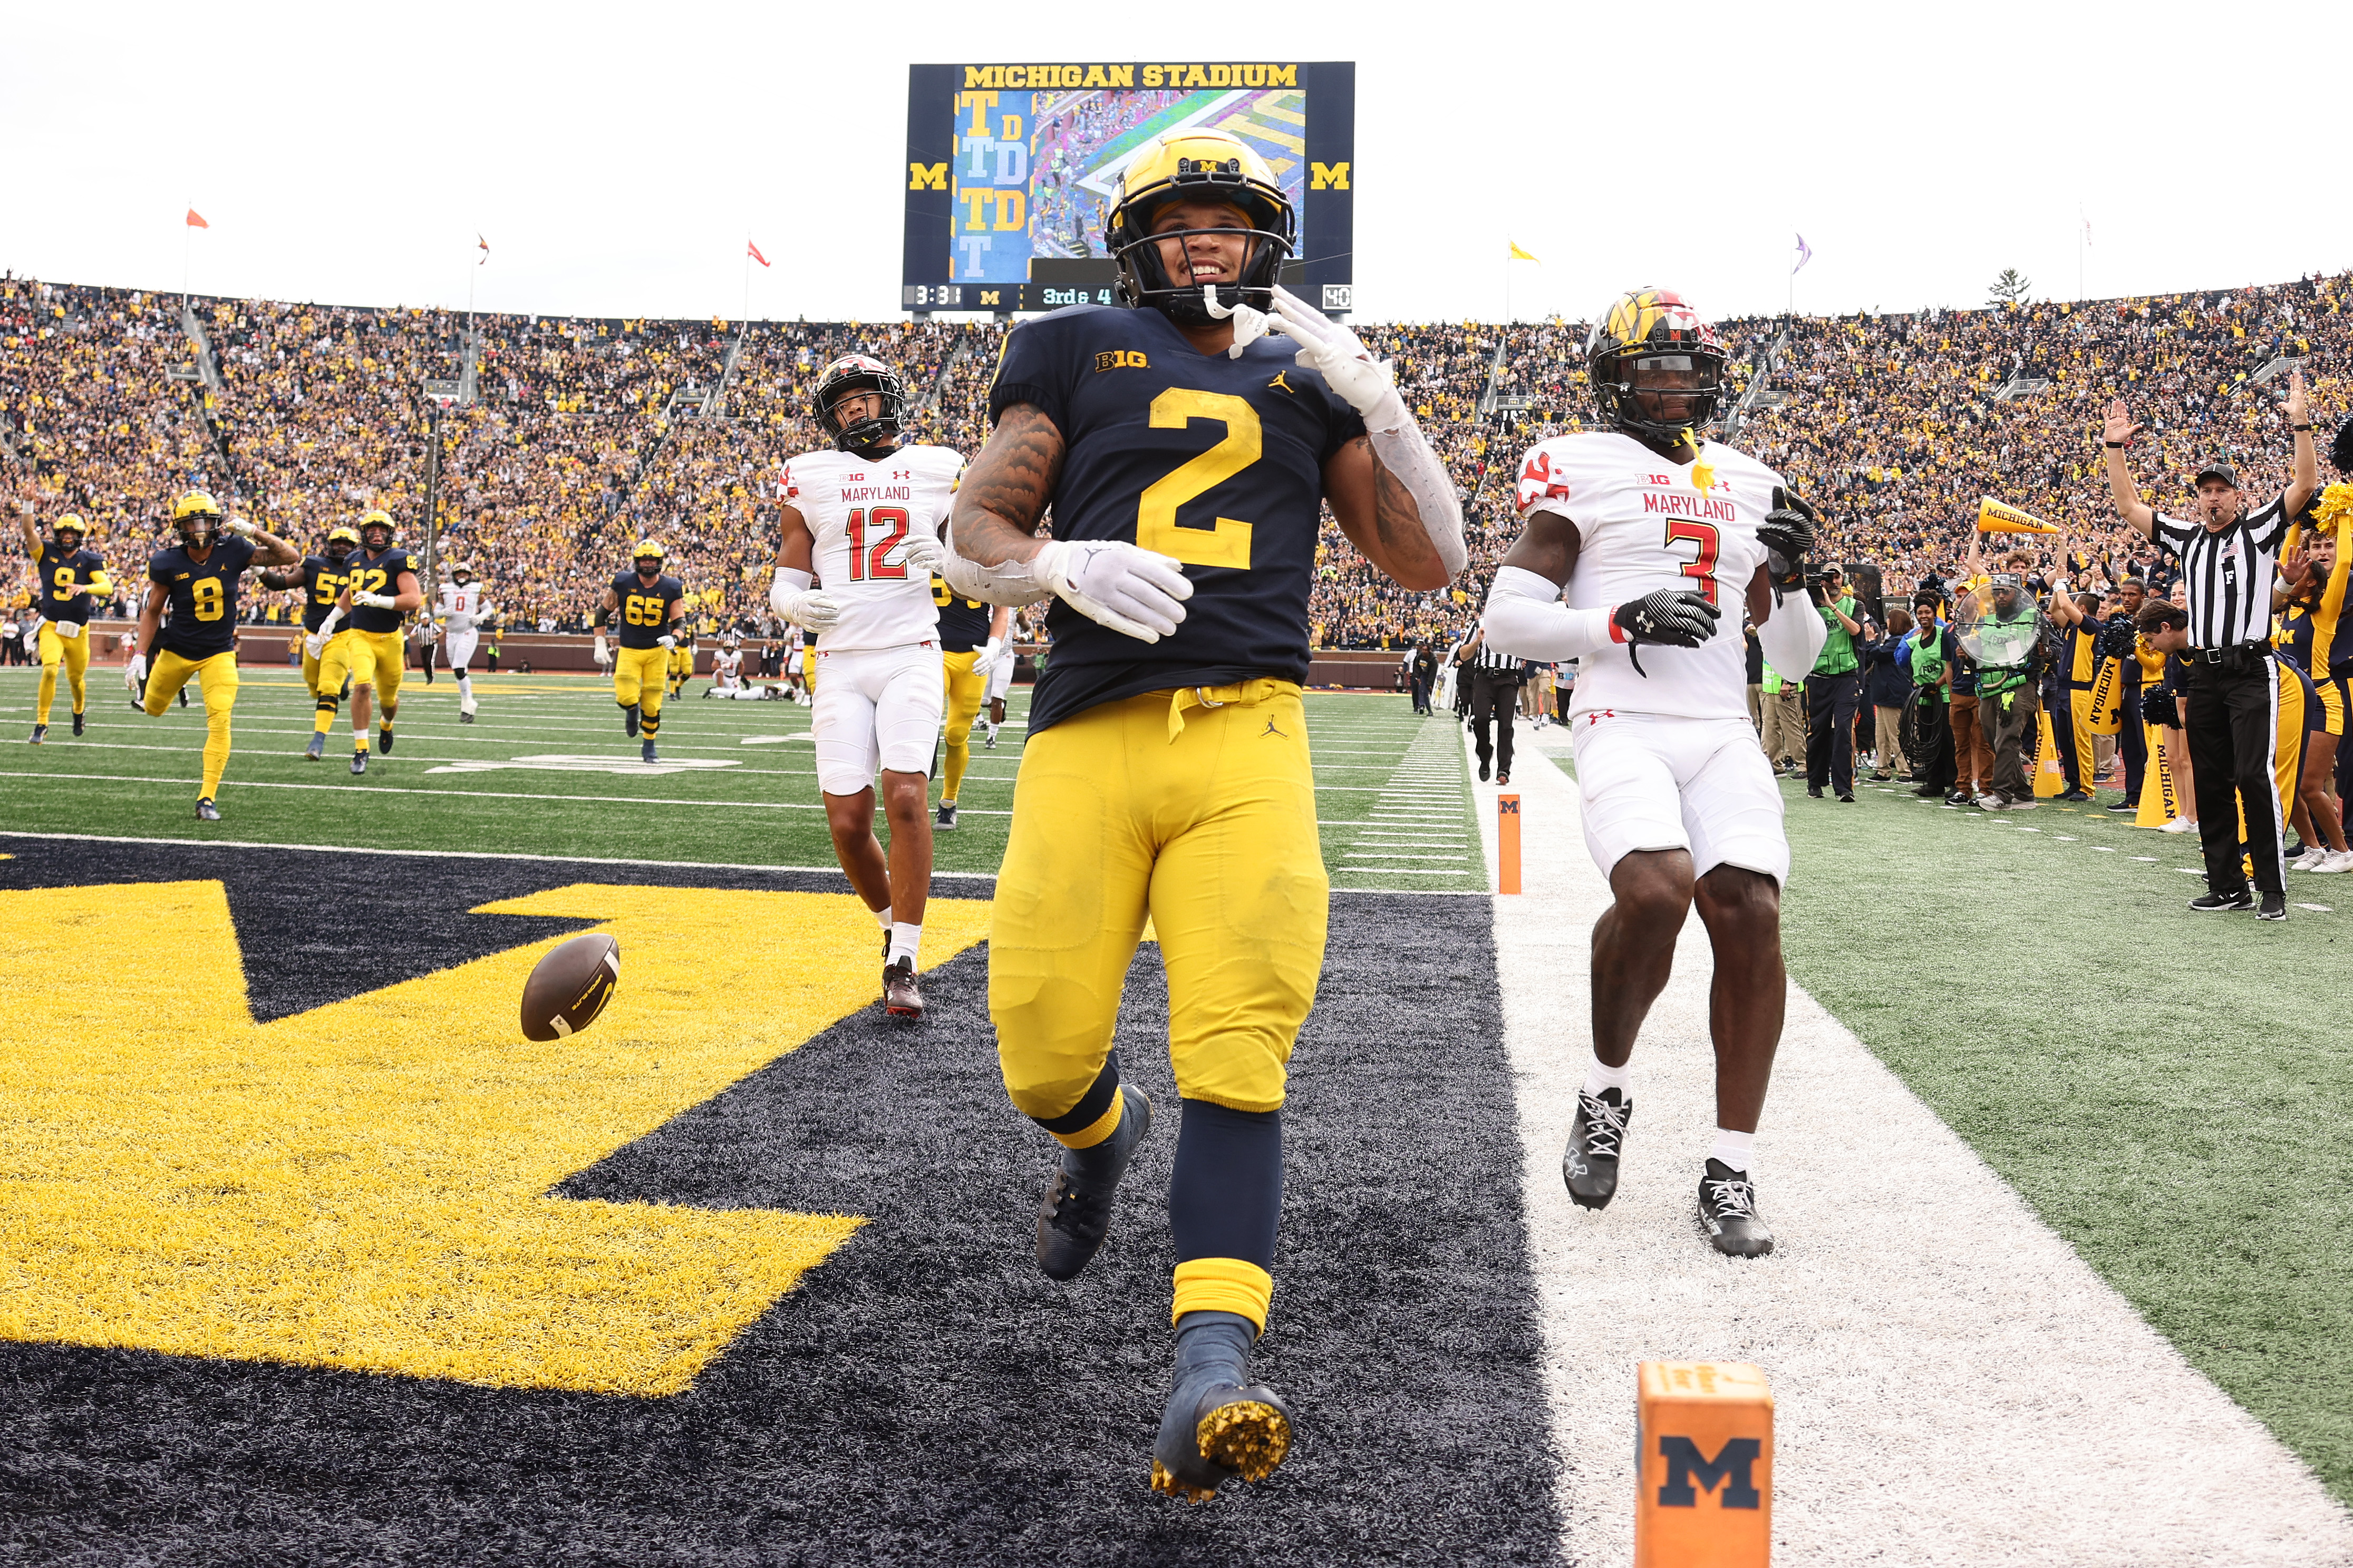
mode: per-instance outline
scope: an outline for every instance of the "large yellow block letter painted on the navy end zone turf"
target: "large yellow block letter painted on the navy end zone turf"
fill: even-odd
[[[569,886],[628,983],[527,1044],[548,945],[256,1025],[216,882],[0,893],[0,1338],[675,1394],[864,1220],[548,1197],[875,997],[856,898]],[[934,900],[941,959],[988,905]],[[800,931],[781,973],[744,931]],[[94,943],[169,961],[59,992]],[[741,957],[739,957],[741,954]],[[840,954],[826,957],[826,954]],[[35,1006],[35,992],[38,1006]]]

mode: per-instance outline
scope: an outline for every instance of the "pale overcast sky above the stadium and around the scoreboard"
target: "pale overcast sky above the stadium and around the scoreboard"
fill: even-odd
[[[2308,71],[2344,54],[2341,5],[1146,14],[26,9],[0,266],[179,289],[193,202],[212,294],[734,317],[751,237],[755,317],[892,317],[906,66],[1132,59],[1358,61],[1360,320],[1501,315],[1511,240],[1541,259],[1511,266],[1522,317],[1647,282],[1718,317],[1791,282],[1802,310],[1977,306],[2005,266],[2073,299],[2078,212],[2092,296],[2353,266]]]

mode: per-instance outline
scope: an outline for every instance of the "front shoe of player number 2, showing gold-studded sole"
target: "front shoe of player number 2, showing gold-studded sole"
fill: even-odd
[[[1207,1502],[1226,1481],[1252,1486],[1292,1450],[1292,1413],[1264,1382],[1249,1382],[1249,1340],[1240,1312],[1186,1312],[1176,1321],[1176,1378],[1153,1441],[1153,1490]]]

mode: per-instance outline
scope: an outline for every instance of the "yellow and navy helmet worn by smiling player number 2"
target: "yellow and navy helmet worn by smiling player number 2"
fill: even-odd
[[[1238,209],[1242,223],[1155,235],[1153,214],[1169,202],[1219,202]],[[1184,244],[1191,235],[1212,233],[1249,240],[1240,282],[1217,284],[1217,303],[1231,308],[1247,301],[1273,310],[1282,263],[1299,249],[1299,214],[1266,160],[1233,132],[1207,127],[1153,136],[1136,148],[1120,174],[1120,200],[1104,223],[1104,240],[1120,263],[1120,296],[1186,327],[1209,324],[1214,317],[1202,284],[1193,282],[1191,263],[1184,280],[1174,280],[1158,240]]]

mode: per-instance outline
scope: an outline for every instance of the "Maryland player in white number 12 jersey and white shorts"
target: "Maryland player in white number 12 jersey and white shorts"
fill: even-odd
[[[922,1018],[915,964],[932,889],[929,773],[944,682],[932,571],[965,458],[901,440],[904,414],[906,388],[880,360],[845,355],[819,376],[816,423],[835,449],[784,468],[769,604],[821,637],[807,656],[809,724],[833,853],[889,933],[882,1009]],[[873,830],[878,771],[889,860]]]

